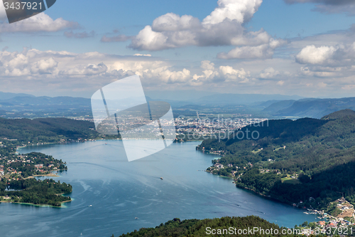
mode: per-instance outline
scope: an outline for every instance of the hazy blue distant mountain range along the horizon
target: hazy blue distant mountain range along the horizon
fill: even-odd
[[[242,112],[273,118],[321,118],[338,110],[355,110],[355,98],[317,99],[301,98],[298,95],[222,94],[194,90],[148,91],[146,95],[148,101],[169,102],[177,114],[183,110],[189,112],[189,115],[208,108],[212,111],[213,108],[212,112],[228,114]],[[0,116],[92,117],[91,100],[0,92]]]

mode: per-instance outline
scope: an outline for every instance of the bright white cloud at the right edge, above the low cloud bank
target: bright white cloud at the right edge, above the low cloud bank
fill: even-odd
[[[299,38],[287,45],[294,58],[297,73],[309,80],[315,78],[351,78],[355,67],[355,25],[344,31]],[[328,83],[330,84],[330,83]]]

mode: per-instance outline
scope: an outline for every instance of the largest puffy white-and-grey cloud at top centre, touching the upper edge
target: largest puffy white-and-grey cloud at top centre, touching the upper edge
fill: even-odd
[[[160,51],[184,46],[238,46],[219,58],[270,58],[285,41],[273,39],[266,31],[246,31],[244,24],[258,11],[262,0],[219,0],[209,16],[168,13],[155,19],[133,36],[130,48]]]

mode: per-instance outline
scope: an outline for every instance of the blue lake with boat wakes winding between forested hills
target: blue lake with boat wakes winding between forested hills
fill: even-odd
[[[198,144],[174,143],[133,162],[119,140],[21,148],[67,162],[67,172],[53,179],[72,184],[73,201],[64,208],[2,203],[1,236],[119,236],[175,217],[255,215],[288,227],[317,219],[204,172],[217,156],[196,151]]]

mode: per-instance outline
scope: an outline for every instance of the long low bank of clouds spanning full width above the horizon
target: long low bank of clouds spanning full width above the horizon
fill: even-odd
[[[337,58],[337,53],[332,58]],[[0,52],[0,80],[4,90],[71,96],[90,96],[98,88],[129,75],[140,75],[144,87],[151,90],[194,86],[197,90],[213,88],[229,93],[280,93],[285,90],[285,93],[307,96],[317,90],[321,82],[327,84],[326,90],[337,93],[346,85],[354,84],[355,64],[306,63],[301,70],[292,58],[245,60],[237,64],[217,62],[221,64],[204,60],[198,68],[184,68],[155,57],[25,48],[22,52]]]

